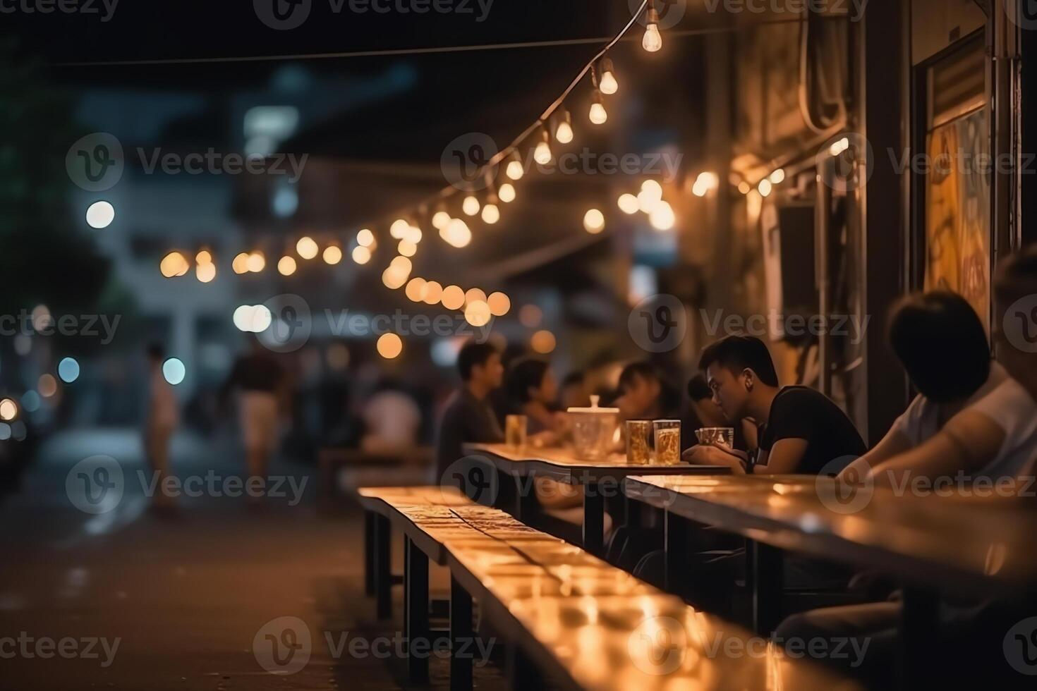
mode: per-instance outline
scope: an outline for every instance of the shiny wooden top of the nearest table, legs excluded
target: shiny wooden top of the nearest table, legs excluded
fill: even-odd
[[[1037,582],[1037,515],[1008,498],[836,496],[831,478],[630,477],[624,493],[783,549],[875,568],[950,591]]]

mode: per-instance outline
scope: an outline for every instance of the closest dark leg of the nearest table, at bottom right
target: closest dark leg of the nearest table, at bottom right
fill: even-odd
[[[903,588],[900,611],[900,688],[922,689],[940,667],[940,597],[927,587]]]

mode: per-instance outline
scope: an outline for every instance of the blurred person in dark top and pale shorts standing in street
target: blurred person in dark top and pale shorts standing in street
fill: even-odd
[[[239,415],[249,477],[265,482],[267,466],[277,443],[278,400],[284,396],[284,370],[259,340],[253,338],[248,353],[234,361],[221,398],[239,392]],[[251,495],[250,495],[251,497]]]

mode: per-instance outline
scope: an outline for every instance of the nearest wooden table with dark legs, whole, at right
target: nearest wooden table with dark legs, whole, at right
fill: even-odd
[[[1033,598],[1037,514],[1018,502],[898,496],[875,488],[864,495],[866,500],[842,505],[833,502],[835,490],[834,479],[795,476],[642,476],[627,478],[623,487],[628,497],[666,510],[668,578],[678,577],[685,564],[683,550],[677,549],[683,521],[673,516],[752,541],[754,626],[759,632],[772,631],[781,618],[782,550],[900,579],[908,686],[923,682],[927,665],[937,659],[941,593]]]

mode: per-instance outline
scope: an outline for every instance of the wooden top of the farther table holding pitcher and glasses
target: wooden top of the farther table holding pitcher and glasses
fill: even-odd
[[[629,476],[728,474],[730,468],[719,465],[633,465],[623,454],[610,454],[596,460],[579,458],[571,449],[527,448],[515,450],[503,443],[467,443],[465,454],[482,456],[500,471],[511,476],[537,474],[567,485],[621,482]]]

